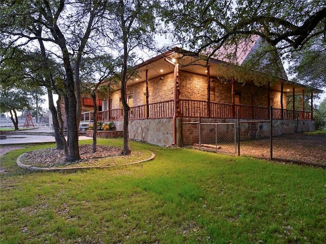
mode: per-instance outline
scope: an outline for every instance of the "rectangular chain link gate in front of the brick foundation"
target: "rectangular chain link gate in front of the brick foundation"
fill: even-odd
[[[199,123],[199,149],[236,153],[236,124]]]

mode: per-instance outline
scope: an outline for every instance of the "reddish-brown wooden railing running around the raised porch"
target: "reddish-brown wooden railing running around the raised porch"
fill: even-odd
[[[249,105],[232,105],[225,103],[210,103],[210,116],[208,113],[208,103],[199,100],[180,99],[180,110],[183,117],[199,117],[201,111],[202,117],[210,118],[236,118],[236,111],[239,108],[240,118],[244,119],[269,119],[269,109],[265,107]],[[129,110],[129,119],[146,119],[146,118],[171,118],[174,112],[173,100],[151,103],[147,106],[140,105],[131,107]],[[82,121],[92,121],[93,112],[82,113]],[[97,113],[98,121],[123,120],[123,109],[112,109],[100,111]],[[273,108],[273,117],[275,119],[312,119],[310,111],[293,111],[289,109]]]

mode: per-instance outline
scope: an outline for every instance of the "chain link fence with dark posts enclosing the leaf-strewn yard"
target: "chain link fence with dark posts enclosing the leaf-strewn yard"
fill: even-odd
[[[182,123],[183,146],[326,168],[326,134],[305,133],[298,120],[287,124],[273,117],[261,121],[238,119],[237,123],[199,120]],[[288,133],[280,133],[285,124]]]

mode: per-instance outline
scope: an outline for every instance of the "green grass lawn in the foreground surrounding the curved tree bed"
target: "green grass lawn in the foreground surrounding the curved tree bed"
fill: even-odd
[[[98,139],[121,146],[121,139]],[[91,143],[86,142],[86,143]],[[150,162],[26,172],[1,159],[4,243],[325,243],[326,172],[131,142]]]

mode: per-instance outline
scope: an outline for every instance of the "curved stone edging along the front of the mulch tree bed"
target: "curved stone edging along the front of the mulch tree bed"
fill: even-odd
[[[103,169],[103,168],[111,168],[111,167],[118,167],[118,166],[126,166],[126,165],[133,165],[133,164],[140,164],[140,163],[144,163],[147,161],[151,161],[155,158],[155,154],[151,153],[151,157],[149,159],[145,159],[145,160],[141,160],[141,161],[137,161],[137,162],[133,162],[133,163],[128,163],[128,164],[119,164],[119,165],[107,165],[107,166],[83,166],[83,167],[66,167],[66,168],[41,168],[41,167],[35,167],[35,166],[31,166],[31,165],[26,165],[26,164],[22,164],[20,162],[20,158],[24,155],[25,153],[23,153],[22,155],[19,155],[19,157],[17,158],[17,165],[20,168],[23,169],[28,169],[28,170],[35,170],[35,171],[44,171],[44,172],[74,172],[74,171],[79,171],[79,170],[86,170],[86,169]]]

